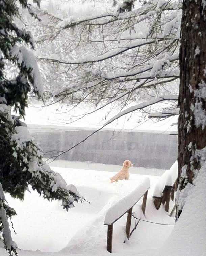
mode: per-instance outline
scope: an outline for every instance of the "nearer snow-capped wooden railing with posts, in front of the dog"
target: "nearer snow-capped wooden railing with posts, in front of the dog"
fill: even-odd
[[[104,225],[107,225],[107,251],[112,252],[112,235],[113,235],[113,224],[120,219],[125,213],[127,213],[127,224],[126,224],[126,234],[129,239],[131,218],[132,218],[132,208],[133,206],[143,197],[143,202],[141,209],[143,214],[145,214],[146,202],[147,202],[147,192],[150,188],[150,180],[148,177],[138,185],[138,187],[132,191],[129,195],[122,198],[116,204],[109,208],[104,218]]]

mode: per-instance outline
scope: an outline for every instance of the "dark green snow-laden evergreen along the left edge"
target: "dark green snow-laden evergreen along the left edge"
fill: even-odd
[[[38,19],[27,1],[19,0],[19,4]],[[17,252],[8,218],[16,212],[7,204],[4,192],[23,200],[31,185],[43,198],[61,200],[66,210],[74,207],[74,201],[83,200],[74,186],[68,186],[44,163],[41,149],[20,121],[28,93],[33,90],[43,98],[43,86],[34,54],[26,48],[34,48],[33,37],[14,23],[15,17],[20,18],[16,1],[0,0],[0,235],[10,255]],[[11,108],[20,116],[11,115]]]

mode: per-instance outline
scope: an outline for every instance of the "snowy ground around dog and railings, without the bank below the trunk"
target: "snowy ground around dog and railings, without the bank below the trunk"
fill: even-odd
[[[106,209],[131,193],[146,176],[150,179],[151,188],[145,217],[140,211],[141,200],[133,211],[137,217],[149,221],[174,223],[174,217],[169,217],[163,207],[157,211],[153,206],[153,187],[158,176],[130,174],[129,180],[110,184],[109,177],[113,175],[112,172],[54,166],[52,169],[60,173],[68,184],[75,184],[80,194],[90,203],[76,204],[75,208],[67,213],[58,201],[48,202],[39,197],[35,191],[26,192],[23,202],[12,199],[6,194],[9,205],[14,207],[18,214],[12,219],[17,232],[17,235],[12,233],[12,238],[20,249],[32,250],[32,252],[20,250],[19,255],[53,255],[53,253],[42,254],[35,251],[55,253],[63,248],[55,255],[73,253],[107,255],[107,227],[103,225]],[[150,172],[152,173],[152,170]],[[134,219],[132,221],[131,228],[135,225]],[[149,252],[160,248],[173,228],[173,226],[140,222],[130,241],[123,244],[125,225],[126,215],[114,224],[114,253],[130,255],[136,251],[144,254],[145,250]],[[0,255],[7,255],[4,249],[0,249]]]

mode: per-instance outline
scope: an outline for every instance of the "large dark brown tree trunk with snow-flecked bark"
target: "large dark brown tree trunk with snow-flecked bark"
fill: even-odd
[[[180,46],[178,119],[178,191],[176,220],[188,186],[201,167],[200,151],[206,147],[206,1],[183,0]],[[187,186],[187,190],[185,187]],[[184,191],[184,198],[181,192]]]

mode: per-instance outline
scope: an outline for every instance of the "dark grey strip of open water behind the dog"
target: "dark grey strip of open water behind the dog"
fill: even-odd
[[[84,129],[32,131],[44,152],[67,150],[92,131]],[[121,165],[130,159],[135,166],[168,169],[177,159],[177,136],[148,132],[102,130],[57,159]],[[50,157],[52,155],[47,155]]]

